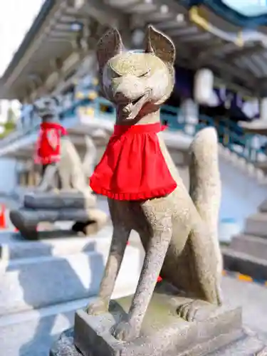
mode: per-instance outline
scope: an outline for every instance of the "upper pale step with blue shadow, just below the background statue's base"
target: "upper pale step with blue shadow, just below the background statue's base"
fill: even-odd
[[[0,315],[95,295],[108,258],[111,235],[100,236],[45,244],[43,241],[6,244],[13,258],[6,256],[0,262]],[[21,246],[23,251],[19,251]],[[116,288],[135,290],[142,255],[140,249],[127,246]]]

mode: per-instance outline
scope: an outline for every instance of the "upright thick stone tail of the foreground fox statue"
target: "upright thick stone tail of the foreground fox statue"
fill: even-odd
[[[221,179],[218,140],[213,127],[206,127],[197,133],[190,147],[190,155],[189,193],[199,215],[206,222],[216,256],[217,272],[221,278],[223,263],[218,239]]]

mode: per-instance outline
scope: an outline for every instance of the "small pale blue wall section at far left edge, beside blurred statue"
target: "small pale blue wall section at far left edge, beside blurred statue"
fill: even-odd
[[[16,160],[0,158],[0,194],[11,193],[16,187]]]

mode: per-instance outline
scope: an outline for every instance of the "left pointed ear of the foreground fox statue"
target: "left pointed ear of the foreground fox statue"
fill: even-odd
[[[103,72],[103,68],[110,58],[122,52],[122,48],[123,43],[120,32],[117,31],[117,28],[110,28],[110,30],[100,38],[96,50],[100,73]]]

